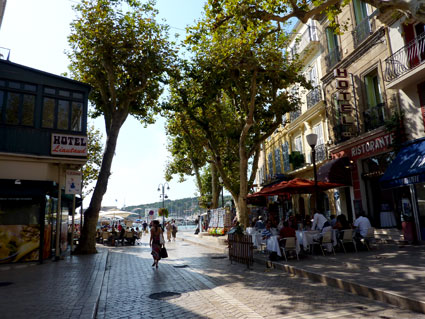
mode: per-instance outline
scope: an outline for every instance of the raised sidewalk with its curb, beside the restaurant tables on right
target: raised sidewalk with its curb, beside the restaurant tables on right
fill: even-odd
[[[227,253],[218,238],[180,234],[184,234],[182,240]],[[375,247],[370,252],[309,255],[299,261],[291,258],[288,262],[272,263],[268,261],[268,254],[254,251],[254,261],[402,309],[425,313],[425,247],[382,244]]]

